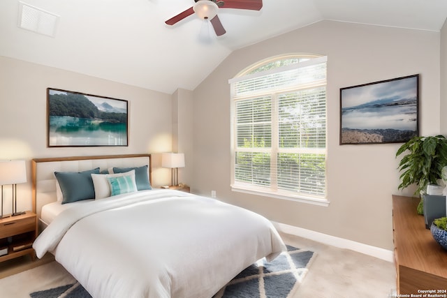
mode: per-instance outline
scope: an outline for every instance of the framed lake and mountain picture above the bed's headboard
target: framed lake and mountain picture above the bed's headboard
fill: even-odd
[[[47,146],[128,146],[127,100],[47,88]]]

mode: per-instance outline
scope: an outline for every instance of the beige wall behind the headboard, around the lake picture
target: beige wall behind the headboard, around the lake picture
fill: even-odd
[[[129,100],[129,147],[47,148],[47,87]],[[153,184],[160,186],[170,176],[156,153],[172,146],[170,95],[0,57],[0,159],[27,161],[28,183],[17,185],[17,209],[31,209],[31,158],[153,153]],[[5,190],[10,213],[10,187]]]

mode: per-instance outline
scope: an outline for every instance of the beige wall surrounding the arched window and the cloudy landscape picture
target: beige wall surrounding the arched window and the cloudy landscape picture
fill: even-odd
[[[420,133],[439,133],[439,33],[318,22],[237,50],[194,91],[194,184],[272,221],[392,249],[391,194],[400,144],[339,145],[339,89],[420,74]],[[328,56],[329,207],[230,191],[228,79],[256,61],[289,52]],[[407,191],[411,194],[411,191]]]

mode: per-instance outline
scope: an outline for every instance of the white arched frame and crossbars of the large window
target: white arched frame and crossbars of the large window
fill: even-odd
[[[279,66],[277,68],[272,68],[270,70],[264,70],[264,71],[260,71],[260,72],[255,72],[255,73],[251,73],[253,70],[256,70],[257,68],[260,68],[262,66],[265,66],[267,64],[271,64],[274,61],[279,61],[279,60],[283,60],[283,59],[309,59],[307,61],[300,61],[299,63],[295,63],[295,64],[291,64],[291,65],[287,65],[287,66]],[[280,72],[284,72],[286,70],[291,70],[291,69],[296,69],[296,68],[302,68],[302,67],[306,67],[309,65],[313,65],[313,64],[318,64],[318,63],[323,63],[326,62],[327,63],[327,57],[325,56],[321,56],[321,55],[314,55],[314,54],[285,54],[285,55],[280,55],[280,56],[275,56],[275,57],[270,57],[269,59],[265,59],[263,61],[259,61],[256,64],[252,64],[251,66],[249,66],[248,68],[245,68],[244,70],[242,70],[240,73],[238,73],[237,75],[235,75],[235,77],[233,77],[233,79],[228,80],[228,82],[230,83],[230,108],[231,108],[231,112],[230,112],[230,135],[231,135],[231,140],[230,140],[230,158],[231,158],[231,163],[230,163],[230,187],[232,191],[236,191],[236,192],[240,192],[240,193],[249,193],[249,194],[253,194],[253,195],[263,195],[263,196],[268,196],[270,198],[279,198],[279,199],[283,199],[283,200],[292,200],[293,202],[305,202],[305,203],[309,203],[309,204],[316,204],[316,205],[320,205],[320,206],[328,206],[329,205],[329,200],[328,200],[328,193],[327,193],[327,189],[328,189],[328,177],[327,177],[327,158],[328,158],[328,128],[327,128],[327,122],[328,122],[328,117],[327,117],[327,75],[325,77],[324,80],[322,80],[321,83],[316,84],[318,86],[324,86],[326,89],[326,104],[325,104],[325,148],[307,148],[307,149],[302,149],[302,148],[293,148],[293,149],[289,149],[289,148],[279,148],[279,146],[277,146],[277,137],[278,137],[278,123],[279,123],[279,116],[276,115],[274,117],[272,117],[272,124],[271,124],[271,129],[272,129],[272,147],[268,148],[268,149],[262,149],[259,148],[259,151],[268,151],[270,156],[271,156],[271,160],[270,163],[274,163],[277,160],[277,156],[274,156],[275,154],[281,154],[283,152],[292,152],[292,153],[302,153],[302,151],[312,151],[312,152],[318,152],[318,154],[324,154],[324,158],[325,158],[325,195],[324,197],[320,196],[320,195],[307,195],[305,193],[296,193],[293,194],[290,191],[283,191],[281,189],[268,189],[262,186],[256,186],[254,184],[249,184],[249,183],[244,183],[241,181],[235,181],[235,151],[241,151],[240,148],[237,148],[237,133],[236,133],[236,119],[235,119],[235,114],[236,114],[236,110],[235,110],[235,106],[236,106],[236,101],[237,100],[241,100],[241,98],[237,98],[237,100],[235,100],[235,90],[233,88],[233,83],[235,82],[240,82],[243,80],[249,80],[252,78],[256,78],[256,77],[261,77],[264,75],[270,75],[272,73],[280,73]],[[326,70],[326,74],[327,74],[327,70]],[[312,84],[312,86],[314,86],[314,84]],[[293,89],[296,91],[296,89]],[[277,91],[269,91],[268,94],[272,96],[272,113],[276,113],[277,114],[277,106],[278,106],[278,102],[279,102],[279,96],[281,94],[286,94],[288,91],[288,89],[278,89]],[[263,96],[267,96],[265,93],[265,91],[262,92]],[[249,94],[247,96],[242,96],[242,98],[256,98],[256,96],[260,96],[260,94]],[[277,148],[273,148],[273,147],[277,147]],[[242,149],[242,151],[244,151]],[[247,149],[247,151],[252,152],[253,149]],[[276,168],[276,165],[275,165]],[[271,170],[270,170],[271,172]],[[270,174],[270,177],[272,177],[272,175]]]

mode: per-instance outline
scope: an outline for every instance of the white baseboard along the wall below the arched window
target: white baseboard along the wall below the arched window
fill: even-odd
[[[323,244],[328,244],[330,246],[335,246],[338,248],[351,249],[351,251],[357,251],[358,253],[364,253],[365,255],[372,255],[373,257],[379,258],[381,260],[394,262],[393,251],[388,251],[387,249],[384,248],[379,248],[368,244],[362,244],[360,242],[352,241],[349,239],[343,239],[328,234],[315,232],[312,230],[298,228],[293,225],[286,225],[285,223],[273,222],[273,224],[274,227],[277,228],[279,232],[284,232],[286,234],[293,234],[298,237],[311,239],[313,241],[321,242]]]

